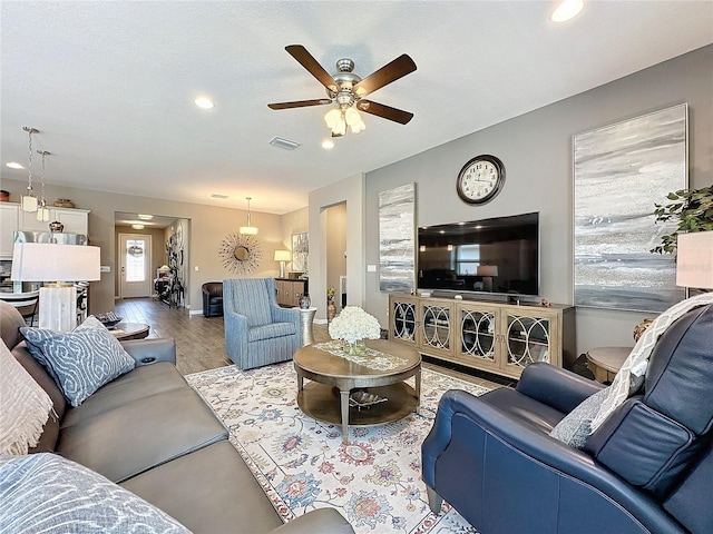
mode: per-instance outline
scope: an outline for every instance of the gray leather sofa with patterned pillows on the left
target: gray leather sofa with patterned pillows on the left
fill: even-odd
[[[333,508],[283,525],[213,411],[176,370],[173,339],[124,343],[133,370],[70,406],[31,356],[21,315],[0,301],[1,336],[53,402],[33,452],[53,452],[89,467],[195,533],[353,533]]]

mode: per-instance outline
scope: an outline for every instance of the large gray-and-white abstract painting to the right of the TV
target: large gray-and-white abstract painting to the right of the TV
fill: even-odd
[[[656,204],[688,185],[687,105],[573,137],[574,304],[663,312],[685,298],[675,259],[652,254],[675,224]]]

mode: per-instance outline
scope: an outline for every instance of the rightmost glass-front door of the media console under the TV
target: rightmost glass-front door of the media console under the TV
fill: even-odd
[[[524,308],[505,308],[504,355],[500,362],[506,374],[519,377],[522,369],[535,362],[561,366],[561,349],[556,313],[538,310],[524,314]]]

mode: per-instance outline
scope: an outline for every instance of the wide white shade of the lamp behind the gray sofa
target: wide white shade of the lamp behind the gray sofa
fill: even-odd
[[[99,247],[82,245],[16,243],[10,278],[17,281],[99,280],[100,251]]]

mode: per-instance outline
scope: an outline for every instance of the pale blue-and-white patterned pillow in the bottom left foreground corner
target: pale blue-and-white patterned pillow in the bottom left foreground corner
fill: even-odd
[[[189,534],[128,490],[52,453],[0,456],[0,532]]]

